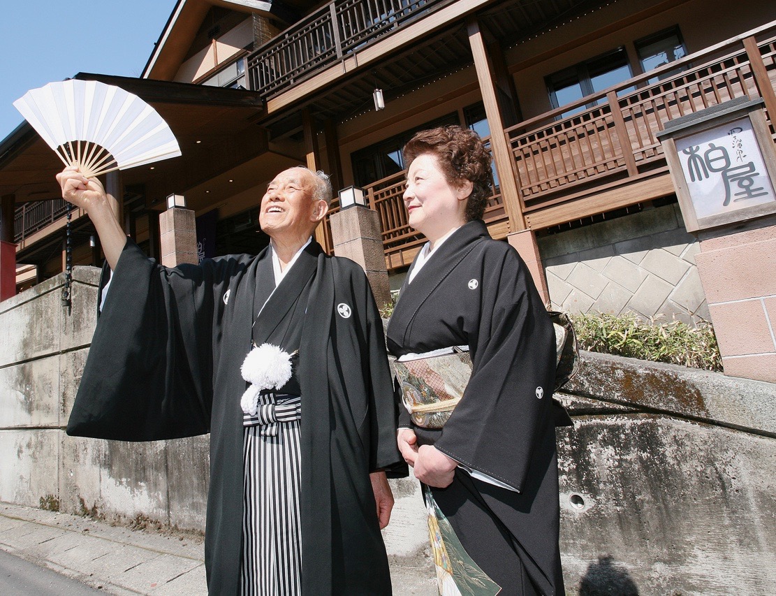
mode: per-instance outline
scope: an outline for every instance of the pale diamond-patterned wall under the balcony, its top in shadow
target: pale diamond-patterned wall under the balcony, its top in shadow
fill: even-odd
[[[698,241],[684,230],[678,205],[537,240],[556,310],[709,321],[695,266]]]

